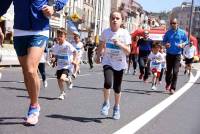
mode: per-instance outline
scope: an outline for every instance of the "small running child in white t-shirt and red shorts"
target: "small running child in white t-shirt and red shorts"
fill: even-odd
[[[162,54],[159,52],[161,45],[155,42],[152,46],[152,52],[148,56],[150,60],[150,69],[153,74],[152,78],[152,90],[156,90],[157,81],[160,77],[160,72],[162,68],[162,62],[164,61]]]

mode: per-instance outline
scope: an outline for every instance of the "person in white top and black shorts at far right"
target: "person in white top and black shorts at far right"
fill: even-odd
[[[196,48],[193,45],[193,42],[190,42],[183,49],[183,56],[185,57],[185,71],[184,74],[188,72],[188,75],[191,74],[192,63],[194,60],[194,56],[196,54]]]

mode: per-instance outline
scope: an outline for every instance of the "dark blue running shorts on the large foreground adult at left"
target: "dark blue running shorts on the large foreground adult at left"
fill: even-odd
[[[17,56],[25,56],[30,47],[46,47],[48,37],[43,35],[15,36],[13,40]]]

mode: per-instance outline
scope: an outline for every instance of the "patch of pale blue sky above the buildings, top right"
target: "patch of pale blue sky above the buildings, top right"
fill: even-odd
[[[149,12],[169,11],[173,7],[180,6],[182,2],[192,2],[192,0],[135,0],[144,10]],[[194,5],[200,5],[200,0],[194,0]]]

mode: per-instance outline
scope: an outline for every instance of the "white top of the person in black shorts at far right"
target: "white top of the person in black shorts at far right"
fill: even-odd
[[[186,45],[183,49],[183,55],[188,58],[188,59],[191,59],[195,56],[196,54],[196,48],[194,46],[191,46],[190,45]]]

